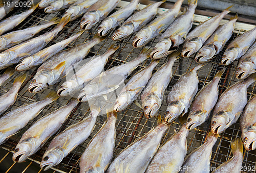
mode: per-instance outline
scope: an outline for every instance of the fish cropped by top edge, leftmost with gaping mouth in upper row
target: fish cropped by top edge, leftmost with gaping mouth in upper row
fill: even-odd
[[[91,6],[87,13],[83,15],[80,28],[90,30],[99,21],[106,18],[109,13],[116,8],[121,0],[101,0]]]

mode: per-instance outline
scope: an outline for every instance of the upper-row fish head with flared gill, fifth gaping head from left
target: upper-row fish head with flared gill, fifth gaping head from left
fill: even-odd
[[[150,57],[152,59],[161,59],[169,55],[170,53],[173,52],[173,50],[168,51],[171,46],[172,46],[172,40],[170,40],[170,38],[162,39],[156,44],[156,46],[154,47],[154,50],[150,54]]]

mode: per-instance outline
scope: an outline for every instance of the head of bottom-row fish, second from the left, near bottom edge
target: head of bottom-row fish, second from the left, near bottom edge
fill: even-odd
[[[52,166],[59,164],[63,158],[64,158],[64,153],[62,148],[50,150],[46,152],[42,157],[40,167],[44,170],[47,170]]]

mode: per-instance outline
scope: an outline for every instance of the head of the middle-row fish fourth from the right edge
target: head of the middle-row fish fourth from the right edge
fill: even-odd
[[[164,114],[164,122],[166,124],[173,122],[182,113],[184,108],[184,104],[180,101],[169,103]]]

